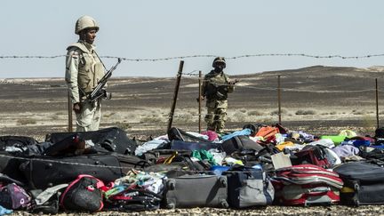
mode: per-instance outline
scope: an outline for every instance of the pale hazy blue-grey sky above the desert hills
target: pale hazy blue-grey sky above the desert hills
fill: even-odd
[[[0,56],[66,53],[75,22],[100,24],[99,54],[132,59],[197,54],[384,53],[384,1],[368,0],[2,0]],[[104,60],[104,59],[103,59]],[[110,68],[115,60],[104,60]],[[324,60],[255,57],[228,60],[229,75],[313,65],[370,67],[384,57]],[[0,78],[64,76],[65,59],[0,59]],[[209,71],[212,58],[187,59],[184,72]],[[114,76],[175,76],[179,60],[123,61]]]

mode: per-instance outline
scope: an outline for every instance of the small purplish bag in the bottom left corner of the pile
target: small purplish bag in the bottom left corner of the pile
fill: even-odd
[[[31,196],[15,183],[0,188],[0,205],[7,209],[27,208],[30,202]]]

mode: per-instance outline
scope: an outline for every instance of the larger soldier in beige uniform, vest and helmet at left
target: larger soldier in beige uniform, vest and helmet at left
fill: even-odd
[[[93,45],[99,25],[90,16],[76,21],[75,34],[79,40],[67,48],[66,82],[76,113],[76,131],[97,131],[100,125],[100,100],[87,99],[105,74],[105,68]]]

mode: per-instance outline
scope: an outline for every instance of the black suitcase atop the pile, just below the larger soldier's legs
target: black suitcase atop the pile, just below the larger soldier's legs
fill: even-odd
[[[126,132],[117,127],[105,128],[94,132],[54,132],[47,134],[45,141],[57,143],[76,134],[82,140],[92,140],[98,147],[118,154],[134,155],[137,147],[136,141],[129,139]]]

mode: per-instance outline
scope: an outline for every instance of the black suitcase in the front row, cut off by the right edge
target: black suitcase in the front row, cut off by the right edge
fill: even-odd
[[[384,204],[384,168],[366,162],[341,164],[333,169],[344,181],[341,204]]]

